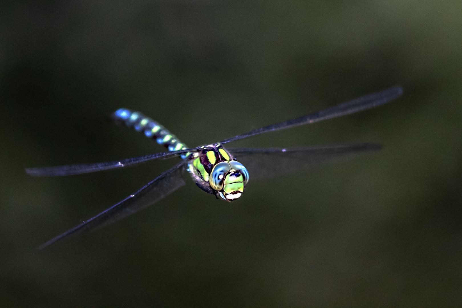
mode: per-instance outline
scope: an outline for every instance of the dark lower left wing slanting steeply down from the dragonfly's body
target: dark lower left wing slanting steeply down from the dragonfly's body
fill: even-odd
[[[109,207],[109,209],[99,213],[95,217],[90,218],[89,220],[80,223],[78,226],[67,230],[63,234],[49,240],[40,246],[39,249],[43,249],[66,236],[84,233],[86,231],[99,229],[110,223],[115,223],[116,221],[137,211],[140,211],[150,205],[153,205],[160,199],[165,198],[170,193],[173,193],[176,189],[186,184],[182,177],[186,163],[188,163],[187,160],[183,160],[182,162],[177,163],[175,166],[159,175],[153,181],[146,184],[143,188],[130,195],[128,198],[120,201],[116,205]]]

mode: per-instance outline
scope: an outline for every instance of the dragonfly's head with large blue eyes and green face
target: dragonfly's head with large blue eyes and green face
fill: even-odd
[[[236,200],[244,192],[244,186],[249,181],[249,172],[235,160],[217,163],[213,166],[209,184],[217,191],[221,199]]]

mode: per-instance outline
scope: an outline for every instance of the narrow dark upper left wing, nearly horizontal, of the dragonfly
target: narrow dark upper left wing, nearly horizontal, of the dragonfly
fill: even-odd
[[[41,168],[27,168],[26,172],[34,176],[63,176],[63,175],[78,175],[83,173],[90,173],[108,169],[122,168],[133,166],[138,163],[148,162],[154,159],[167,159],[177,157],[183,153],[194,152],[196,149],[187,149],[180,151],[171,151],[166,153],[156,153],[140,157],[132,157],[115,162],[106,163],[84,163],[78,165],[66,165],[55,167],[41,167]]]

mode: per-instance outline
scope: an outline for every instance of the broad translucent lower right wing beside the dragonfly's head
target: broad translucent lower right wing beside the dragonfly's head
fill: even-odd
[[[237,161],[249,171],[249,179],[268,179],[314,168],[323,163],[365,151],[377,151],[373,143],[316,145],[289,149],[228,148]]]

